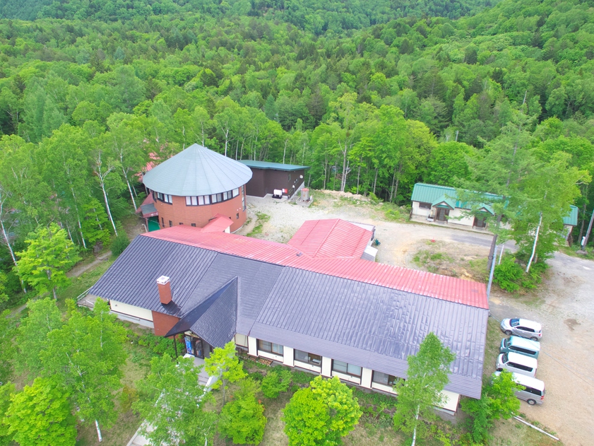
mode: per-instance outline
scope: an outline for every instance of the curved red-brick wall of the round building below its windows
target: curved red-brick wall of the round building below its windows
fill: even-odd
[[[155,200],[155,208],[159,212],[159,224],[163,228],[169,228],[179,223],[190,226],[196,223],[198,228],[203,228],[211,218],[221,213],[231,218],[231,232],[238,230],[246,221],[246,211],[242,206],[242,189],[239,189],[239,195],[233,199],[222,201],[222,203],[208,204],[206,206],[186,206],[185,196],[172,196],[172,204],[163,203]],[[239,218],[237,218],[239,214]]]

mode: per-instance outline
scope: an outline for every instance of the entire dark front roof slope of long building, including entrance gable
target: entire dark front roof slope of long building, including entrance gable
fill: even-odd
[[[155,283],[162,275],[171,278],[168,305]],[[405,377],[407,356],[433,331],[456,353],[446,390],[480,398],[489,312],[479,307],[143,236],[90,294],[183,318],[234,279],[191,327],[209,343],[234,331]]]

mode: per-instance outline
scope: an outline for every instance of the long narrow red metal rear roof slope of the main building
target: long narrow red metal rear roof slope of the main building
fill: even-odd
[[[485,283],[465,281],[461,278],[440,276],[363,259],[314,258],[283,243],[229,233],[203,233],[199,228],[185,225],[143,235],[261,262],[372,283],[473,307],[489,308]]]

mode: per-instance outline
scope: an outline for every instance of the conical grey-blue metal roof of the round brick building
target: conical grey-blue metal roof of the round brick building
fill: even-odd
[[[192,144],[146,172],[143,183],[162,194],[199,196],[237,189],[250,178],[251,170],[246,165]]]

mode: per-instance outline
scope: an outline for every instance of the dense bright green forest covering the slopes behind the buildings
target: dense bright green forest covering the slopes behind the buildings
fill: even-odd
[[[430,15],[487,4],[22,2],[49,18],[0,20],[4,269],[38,225],[107,240],[150,157],[194,142],[396,204],[419,181],[536,202],[539,172],[573,168],[552,190],[580,207],[577,238],[593,202],[593,3],[504,0],[451,20]],[[502,147],[518,158],[493,160]],[[481,163],[516,169],[498,186]]]

